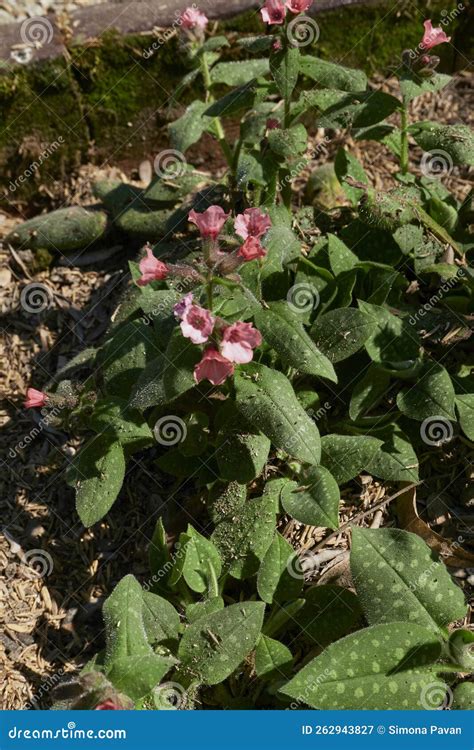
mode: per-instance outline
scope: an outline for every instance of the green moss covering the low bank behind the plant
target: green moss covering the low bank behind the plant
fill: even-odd
[[[321,14],[315,51],[367,73],[393,72],[401,51],[419,43],[423,19],[429,16],[438,23],[447,15],[444,6],[444,0],[417,0],[393,8],[383,0]],[[474,35],[474,24],[469,28],[472,14],[468,6],[446,27],[459,54],[453,60],[451,46],[438,47],[442,70],[467,65]],[[249,11],[222,22],[221,30],[254,34],[262,25],[258,12]],[[30,201],[37,197],[40,181],[63,179],[91,158],[128,169],[168,145],[166,110],[188,70],[177,36],[156,48],[152,35],[120,37],[110,32],[93,44],[72,47],[70,53],[70,61],[2,66],[0,190],[6,197],[2,201],[0,196],[0,203]],[[180,101],[188,102],[193,95],[196,90],[188,89]],[[61,147],[32,177],[9,189],[59,135],[64,139]]]

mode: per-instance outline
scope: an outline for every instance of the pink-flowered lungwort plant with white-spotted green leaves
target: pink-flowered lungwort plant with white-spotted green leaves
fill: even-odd
[[[410,122],[412,102],[449,83],[431,54],[450,42],[442,29],[427,20],[418,48],[401,51],[394,96],[302,43],[292,24],[310,6],[266,0],[266,33],[241,39],[232,61],[227,39],[206,38],[207,19],[185,11],[183,87],[201,94],[170,124],[171,146],[184,156],[210,134],[225,171],[181,163],[140,194],[140,210],[130,186],[119,209],[104,194],[121,231],[150,244],[102,346],[61,384],[85,438],[68,477],[92,526],[114,512],[137,456],[159,475],[165,509],[149,579],[126,576],[104,605],[105,649],[81,677],[89,696],[91,680],[102,686],[99,708],[115,693],[158,710],[472,700],[464,597],[445,562],[469,566],[473,553],[428,526],[414,491],[474,441],[462,344],[472,196],[442,179],[472,166],[473,136]],[[235,138],[226,118],[240,120]],[[316,129],[353,139],[331,166],[343,205],[328,210],[293,190]],[[369,140],[398,163],[391,189],[375,189],[351,153]],[[31,407],[61,393],[30,391]],[[382,528],[358,507],[367,482],[386,492]],[[176,528],[177,500],[193,518]],[[350,561],[332,578],[318,551],[349,531],[341,511]],[[288,532],[304,527],[307,539],[317,529],[309,554]]]

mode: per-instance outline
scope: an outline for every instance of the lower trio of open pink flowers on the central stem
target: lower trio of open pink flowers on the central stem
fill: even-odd
[[[209,380],[221,385],[234,373],[234,365],[246,364],[253,358],[253,350],[262,343],[262,336],[251,323],[237,321],[227,325],[187,294],[174,308],[183,336],[193,344],[206,344],[211,335],[214,341],[205,349],[194,369],[196,383]]]

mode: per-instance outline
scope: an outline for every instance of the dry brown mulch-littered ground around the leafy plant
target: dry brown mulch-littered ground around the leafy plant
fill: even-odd
[[[393,81],[384,84],[389,91],[393,86]],[[473,105],[474,77],[459,74],[445,95],[418,100],[417,116],[472,125]],[[342,135],[328,141],[323,138],[324,133],[315,135],[315,149],[321,142],[325,148],[317,149],[313,167],[330,159],[343,140]],[[377,187],[391,184],[396,165],[388,151],[374,144],[349,141],[347,145]],[[412,156],[416,168],[420,154],[413,149]],[[136,176],[138,167],[134,165],[125,177]],[[57,184],[49,192],[51,204],[89,201],[95,174],[94,168],[84,167],[79,175]],[[303,182],[297,180],[296,188]],[[464,197],[471,182],[467,171],[456,169],[447,185]],[[2,236],[15,221],[3,215]],[[103,522],[85,530],[64,477],[77,443],[52,427],[38,430],[35,417],[22,407],[28,386],[46,386],[75,354],[100,340],[129,283],[127,249],[121,248],[95,265],[64,266],[54,259],[43,270],[35,268],[28,253],[18,255],[8,246],[3,246],[1,258],[4,336],[0,387],[5,402],[0,419],[5,460],[0,479],[4,527],[0,534],[0,670],[5,676],[0,685],[0,708],[46,707],[51,688],[64,675],[77,673],[103,645],[100,606],[113,585],[125,573],[132,572],[142,580],[146,577],[147,542],[159,513],[160,497],[150,495],[149,467],[137,460],[120,501]],[[47,290],[48,304],[40,314],[25,311],[21,305],[22,290],[30,284]],[[430,466],[428,481],[419,490],[418,510],[429,523],[424,533],[431,528],[451,539],[463,536],[465,546],[473,542],[470,467],[472,451],[467,443],[456,453],[449,447],[439,453],[438,463]],[[341,523],[356,518],[364,525],[393,524],[395,503],[383,502],[397,489],[370,476],[360,477],[344,493]],[[446,512],[443,493],[457,506],[456,518]],[[408,512],[408,506],[404,507]],[[365,515],[366,511],[370,513]],[[326,538],[326,530],[291,520],[283,531],[295,548],[311,555],[308,560],[315,580],[350,580],[349,540],[344,530]],[[452,571],[465,585],[474,573],[474,562],[467,569],[454,564]]]

